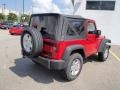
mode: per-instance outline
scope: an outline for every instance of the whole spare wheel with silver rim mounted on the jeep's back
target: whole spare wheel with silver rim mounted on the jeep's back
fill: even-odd
[[[27,28],[21,36],[23,56],[38,57],[43,48],[41,33],[35,28]]]

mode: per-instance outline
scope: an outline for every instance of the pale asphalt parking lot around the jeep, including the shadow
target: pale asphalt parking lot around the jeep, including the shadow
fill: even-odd
[[[90,57],[71,82],[22,59],[20,48],[20,36],[0,30],[0,90],[120,90],[120,46],[112,46],[106,62]]]

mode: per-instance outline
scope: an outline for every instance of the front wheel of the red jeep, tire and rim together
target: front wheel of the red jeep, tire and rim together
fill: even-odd
[[[103,52],[99,52],[98,53],[98,59],[99,59],[99,61],[106,61],[107,60],[107,58],[109,56],[109,49],[110,49],[109,45],[105,44]]]

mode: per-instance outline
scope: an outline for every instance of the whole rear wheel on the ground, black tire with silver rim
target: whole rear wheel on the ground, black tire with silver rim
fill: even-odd
[[[72,54],[68,59],[67,67],[62,70],[62,75],[69,81],[74,80],[79,76],[82,66],[82,56],[78,53]]]

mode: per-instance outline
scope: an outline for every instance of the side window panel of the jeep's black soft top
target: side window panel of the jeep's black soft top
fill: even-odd
[[[85,22],[82,19],[68,19],[66,39],[82,39],[86,36]]]

